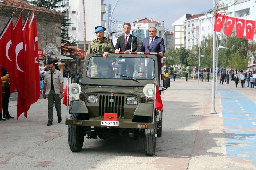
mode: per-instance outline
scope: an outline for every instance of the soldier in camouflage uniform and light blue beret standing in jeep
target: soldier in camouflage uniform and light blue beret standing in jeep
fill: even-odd
[[[102,54],[103,57],[93,57],[91,61],[91,77],[109,78],[110,59],[107,58],[109,53],[115,53],[115,49],[109,40],[104,39],[104,31],[106,28],[102,26],[95,27],[96,39],[91,41],[87,54]]]

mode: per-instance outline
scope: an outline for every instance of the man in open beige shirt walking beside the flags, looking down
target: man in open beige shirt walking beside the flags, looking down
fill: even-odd
[[[45,74],[44,93],[43,97],[46,99],[48,94],[48,123],[47,126],[53,124],[53,103],[57,111],[58,123],[61,122],[61,99],[63,97],[63,76],[62,73],[55,69],[53,61],[48,63],[49,71]]]

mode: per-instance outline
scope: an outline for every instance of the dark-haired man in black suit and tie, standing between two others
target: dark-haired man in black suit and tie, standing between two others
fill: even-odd
[[[115,46],[115,53],[119,54],[119,50],[125,52],[125,54],[128,54],[129,52],[134,52],[137,50],[137,37],[132,36],[130,34],[131,30],[131,24],[130,23],[124,23],[124,36],[120,36],[117,39],[117,43]],[[133,39],[132,39],[133,38]],[[132,49],[131,49],[131,41],[132,41]],[[130,77],[133,77],[133,71],[134,71],[134,64],[135,64],[135,58],[126,58],[126,61],[123,63],[119,63],[119,69],[121,70],[122,75],[127,75]]]

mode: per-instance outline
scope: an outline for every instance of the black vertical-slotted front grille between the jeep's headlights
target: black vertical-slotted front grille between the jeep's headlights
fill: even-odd
[[[113,102],[109,102],[109,99],[114,99]],[[117,113],[117,117],[124,117],[124,96],[99,96],[99,113],[100,116],[104,116],[104,113]]]

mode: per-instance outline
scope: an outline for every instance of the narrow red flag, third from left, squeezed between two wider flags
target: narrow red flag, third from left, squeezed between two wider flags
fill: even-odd
[[[20,93],[18,91],[17,120],[23,112],[25,113],[24,115],[27,116],[28,109],[30,108],[30,106],[28,107],[28,101],[29,101],[29,95],[30,95],[30,84],[27,83],[27,82],[29,81],[29,78],[30,78],[29,69],[30,69],[31,66],[29,66],[26,62],[29,58],[29,53],[28,53],[28,49],[29,49],[29,46],[28,46],[29,45],[29,43],[28,43],[28,41],[29,41],[28,24],[29,24],[29,21],[28,21],[28,17],[27,17],[25,22],[24,22],[23,28],[22,28],[24,57],[23,57],[23,59],[18,58],[18,60],[17,60],[18,63],[19,63],[19,66],[20,67],[23,66],[23,73],[24,73],[23,84],[19,83],[20,89],[22,89],[21,91],[23,92],[23,96],[21,96],[22,92]]]

